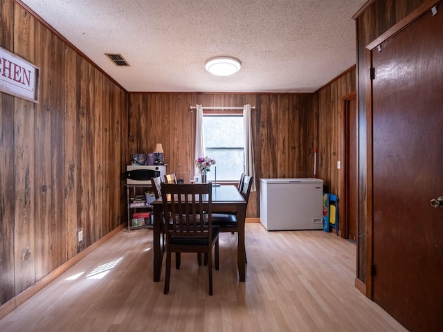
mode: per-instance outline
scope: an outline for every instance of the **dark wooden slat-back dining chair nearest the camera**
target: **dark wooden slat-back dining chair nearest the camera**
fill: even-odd
[[[219,227],[212,221],[212,184],[162,183],[161,196],[166,233],[166,274],[164,293],[168,294],[171,253],[197,252],[208,256],[209,295],[213,295],[213,259],[219,266]],[[203,203],[207,201],[207,203]],[[177,257],[177,256],[176,256]],[[176,268],[179,268],[176,263]]]

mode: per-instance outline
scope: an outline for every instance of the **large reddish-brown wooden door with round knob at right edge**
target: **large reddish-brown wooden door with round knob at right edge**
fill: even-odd
[[[372,294],[410,331],[443,326],[442,31],[428,11],[372,50]]]

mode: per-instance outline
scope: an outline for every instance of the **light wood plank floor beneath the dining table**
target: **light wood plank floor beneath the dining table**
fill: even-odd
[[[182,255],[170,293],[152,281],[152,230],[116,234],[0,320],[0,331],[406,331],[354,287],[356,247],[335,234],[268,232],[246,223],[246,282],[236,234],[220,235],[220,269]],[[164,259],[163,259],[164,264]]]

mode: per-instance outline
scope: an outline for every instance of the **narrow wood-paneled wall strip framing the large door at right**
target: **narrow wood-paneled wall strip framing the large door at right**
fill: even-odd
[[[367,130],[367,118],[370,117],[366,109],[367,91],[369,89],[368,74],[365,55],[366,45],[406,17],[415,8],[425,3],[426,0],[372,0],[355,15],[357,39],[357,89],[359,104],[359,246],[357,256],[357,278],[365,283],[370,276],[370,248],[371,238],[368,237],[368,209],[370,208],[370,163],[372,156],[371,133]],[[369,235],[370,236],[370,235]],[[369,288],[367,288],[369,292]],[[369,295],[369,293],[367,293]]]

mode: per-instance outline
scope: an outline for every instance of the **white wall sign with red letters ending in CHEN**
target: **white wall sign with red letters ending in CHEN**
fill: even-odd
[[[40,68],[0,47],[0,91],[39,101]]]

